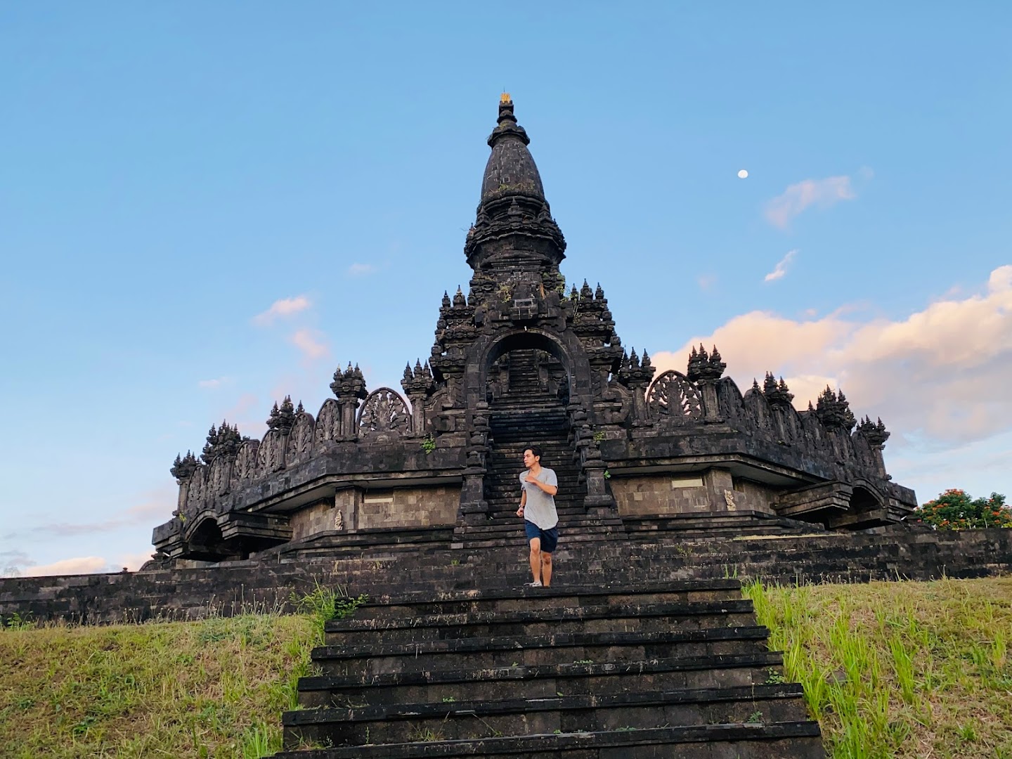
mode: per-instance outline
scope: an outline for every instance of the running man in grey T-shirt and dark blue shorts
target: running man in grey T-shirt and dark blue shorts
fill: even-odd
[[[534,581],[531,588],[552,585],[552,552],[559,542],[559,513],[555,495],[559,492],[556,473],[541,466],[541,449],[531,445],[523,451],[520,473],[520,508],[516,515],[523,519],[527,540],[530,542],[530,571]]]

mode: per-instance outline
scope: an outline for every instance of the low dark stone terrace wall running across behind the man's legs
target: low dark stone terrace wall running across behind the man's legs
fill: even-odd
[[[152,618],[289,609],[292,593],[316,584],[348,593],[512,587],[526,580],[524,549],[409,551],[400,558],[245,561],[186,570],[0,579],[0,621],[17,613],[34,620],[104,623]],[[557,552],[559,584],[605,583],[615,573],[647,571],[655,580],[720,578],[729,568],[767,582],[862,582],[986,577],[1012,572],[1012,529],[936,532],[890,527],[689,542],[652,537],[580,543]],[[643,569],[637,569],[646,568]]]

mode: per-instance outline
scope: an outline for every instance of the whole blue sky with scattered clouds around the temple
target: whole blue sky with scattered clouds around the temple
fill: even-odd
[[[1012,9],[818,5],[5,5],[0,571],[135,567],[212,423],[399,387],[503,89],[625,345],[1012,496]]]

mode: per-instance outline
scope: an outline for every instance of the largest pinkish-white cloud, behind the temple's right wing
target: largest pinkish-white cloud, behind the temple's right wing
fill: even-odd
[[[896,321],[861,321],[846,310],[799,320],[751,312],[678,350],[658,351],[654,363],[684,371],[700,342],[720,348],[743,391],[770,370],[806,408],[827,384],[841,387],[855,414],[881,416],[895,433],[922,436],[934,448],[1012,428],[1012,265],[991,272],[979,292]]]

